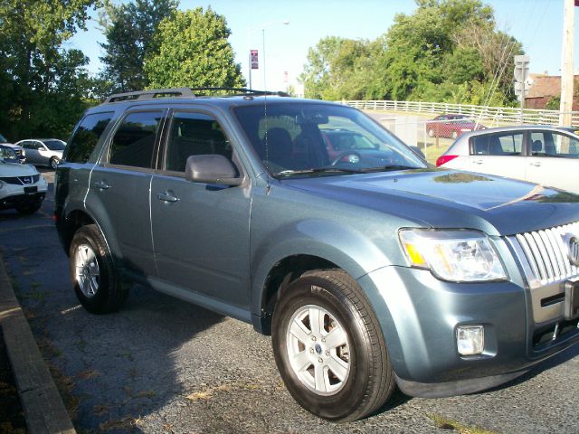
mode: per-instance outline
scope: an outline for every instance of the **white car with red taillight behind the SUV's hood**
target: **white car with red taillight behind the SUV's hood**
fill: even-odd
[[[568,128],[489,128],[460,136],[436,165],[579,193],[579,135]]]

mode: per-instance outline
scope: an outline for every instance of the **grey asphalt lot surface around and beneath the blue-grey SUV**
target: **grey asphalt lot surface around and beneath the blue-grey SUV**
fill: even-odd
[[[52,173],[45,175],[52,181]],[[319,420],[289,396],[270,337],[251,325],[147,288],[134,288],[116,314],[82,309],[52,206],[51,193],[33,216],[0,212],[0,249],[79,432],[579,430],[579,348],[490,392],[436,400],[395,392],[389,405],[365,420]]]

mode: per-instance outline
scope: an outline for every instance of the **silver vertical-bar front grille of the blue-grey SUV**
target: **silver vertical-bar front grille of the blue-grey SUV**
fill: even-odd
[[[543,231],[524,232],[508,237],[524,252],[532,276],[542,284],[564,280],[579,274],[567,256],[565,236],[579,236],[579,222],[556,226]]]

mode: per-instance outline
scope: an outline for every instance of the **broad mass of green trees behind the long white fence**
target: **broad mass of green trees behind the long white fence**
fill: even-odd
[[[321,99],[511,104],[507,73],[522,47],[480,0],[416,0],[373,42],[330,36],[308,51],[300,80]]]

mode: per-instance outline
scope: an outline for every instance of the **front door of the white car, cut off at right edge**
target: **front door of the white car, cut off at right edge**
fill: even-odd
[[[579,193],[579,140],[557,131],[529,133],[527,181]]]

